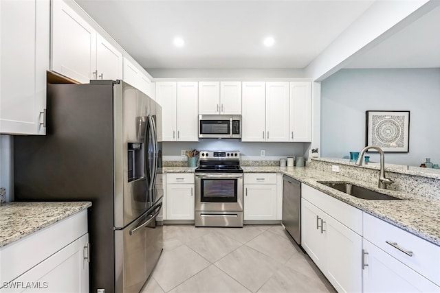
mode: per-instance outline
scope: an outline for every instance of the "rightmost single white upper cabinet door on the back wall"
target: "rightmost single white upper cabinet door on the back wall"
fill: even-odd
[[[311,141],[311,82],[290,82],[289,141]]]

